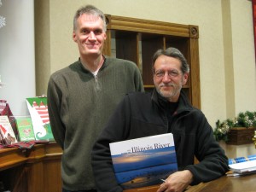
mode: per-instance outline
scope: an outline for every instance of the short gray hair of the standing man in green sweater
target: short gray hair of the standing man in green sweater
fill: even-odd
[[[104,32],[107,31],[107,21],[106,21],[105,15],[103,14],[103,12],[100,9],[97,9],[93,5],[86,5],[77,10],[76,14],[73,17],[73,31],[75,31],[77,29],[77,20],[79,19],[79,16],[81,16],[83,14],[95,15],[95,16],[99,16],[100,18],[102,18],[103,25],[104,25],[103,30],[104,30]]]

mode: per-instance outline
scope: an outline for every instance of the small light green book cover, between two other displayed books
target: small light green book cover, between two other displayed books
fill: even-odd
[[[32,119],[29,116],[15,116],[20,142],[35,140]]]

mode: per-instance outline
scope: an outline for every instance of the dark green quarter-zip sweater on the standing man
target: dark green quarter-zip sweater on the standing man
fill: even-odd
[[[55,141],[63,149],[64,189],[96,189],[91,148],[118,103],[132,91],[143,91],[143,81],[131,61],[107,57],[96,77],[80,61],[51,75],[49,120]]]

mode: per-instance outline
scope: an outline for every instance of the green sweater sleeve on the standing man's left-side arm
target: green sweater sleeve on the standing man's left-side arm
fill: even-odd
[[[49,123],[56,143],[64,148],[65,127],[61,122],[61,90],[51,77],[48,83],[47,103]]]

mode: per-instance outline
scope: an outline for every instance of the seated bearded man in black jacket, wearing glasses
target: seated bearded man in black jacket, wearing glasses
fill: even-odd
[[[131,93],[119,103],[92,151],[96,188],[119,192],[109,143],[172,132],[178,172],[166,178],[157,192],[183,191],[189,184],[208,182],[228,171],[228,159],[212,135],[207,118],[193,108],[182,87],[189,65],[178,49],[159,49],[153,57],[154,91]],[[200,163],[194,165],[194,157]]]

